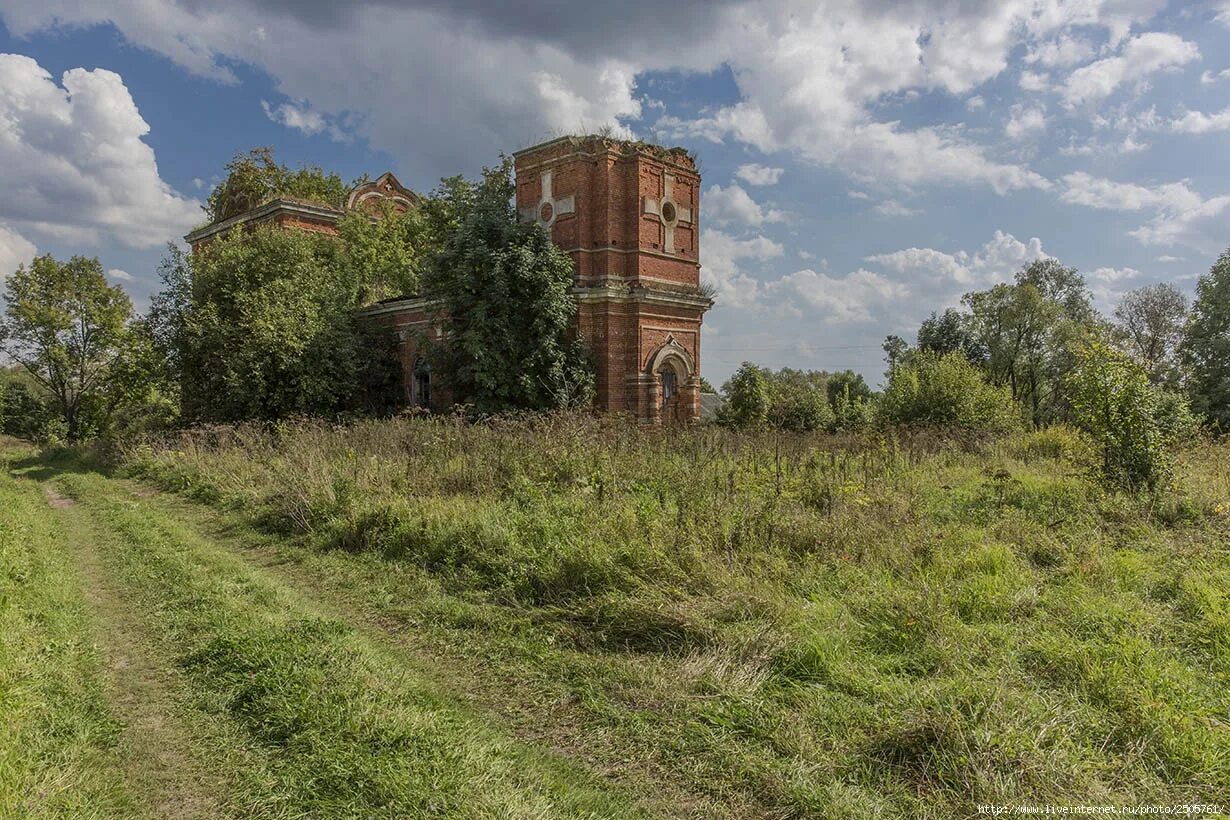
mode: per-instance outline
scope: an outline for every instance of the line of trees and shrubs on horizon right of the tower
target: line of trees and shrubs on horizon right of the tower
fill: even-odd
[[[913,345],[889,336],[884,353],[881,393],[840,374],[744,363],[722,387],[718,420],[984,436],[1071,425],[1098,444],[1114,483],[1154,487],[1177,443],[1202,428],[1230,430],[1230,250],[1200,278],[1193,304],[1161,283],[1124,294],[1111,317],[1093,307],[1075,268],[1039,259],[1011,283],[932,312]]]

